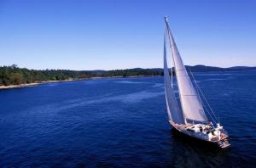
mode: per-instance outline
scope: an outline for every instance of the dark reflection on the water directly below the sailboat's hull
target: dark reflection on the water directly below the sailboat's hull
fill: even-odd
[[[174,139],[172,153],[176,154],[172,160],[174,167],[229,167],[225,162],[229,159],[230,148],[216,148],[173,129],[171,135]]]

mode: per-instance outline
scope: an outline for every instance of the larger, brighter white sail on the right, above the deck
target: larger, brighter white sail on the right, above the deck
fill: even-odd
[[[195,92],[192,82],[189,79],[187,70],[184,67],[183,60],[178,53],[176,43],[172,36],[170,27],[166,21],[167,32],[169,35],[172,57],[177,77],[177,85],[180,96],[180,102],[183,110],[184,119],[195,121],[207,121],[207,116],[201,105],[201,101]],[[185,120],[186,121],[186,120]]]

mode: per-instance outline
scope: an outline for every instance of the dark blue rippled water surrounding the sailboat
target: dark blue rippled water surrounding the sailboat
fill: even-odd
[[[172,132],[162,77],[96,79],[0,91],[0,166],[253,167],[256,72],[195,78],[231,148]]]

